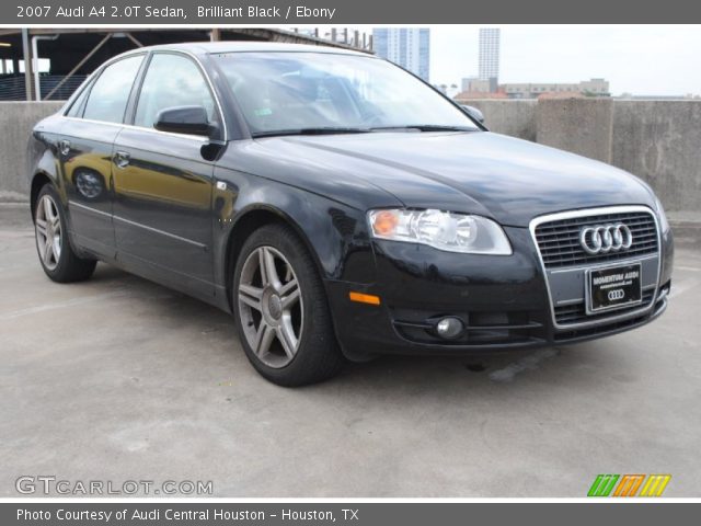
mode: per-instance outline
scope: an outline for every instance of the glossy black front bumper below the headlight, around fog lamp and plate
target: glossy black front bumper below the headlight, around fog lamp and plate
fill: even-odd
[[[545,277],[549,271],[531,231],[514,227],[505,231],[514,249],[510,256],[466,255],[375,240],[375,284],[326,284],[346,356],[359,361],[376,354],[462,355],[561,345],[643,325],[666,309],[674,254],[670,232],[659,237],[643,308],[561,324],[553,312],[552,297],[558,293],[549,287],[552,277]],[[572,278],[576,288],[577,277]],[[350,290],[377,295],[381,305],[352,302]],[[445,316],[463,321],[467,329],[460,338],[444,340],[436,334],[435,323]]]

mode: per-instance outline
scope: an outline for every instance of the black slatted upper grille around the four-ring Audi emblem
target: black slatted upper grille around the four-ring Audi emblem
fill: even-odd
[[[631,229],[631,248],[606,254],[585,252],[579,244],[582,229],[611,222],[622,222]],[[536,240],[545,268],[588,265],[657,252],[655,218],[646,211],[589,215],[542,222],[536,227]]]

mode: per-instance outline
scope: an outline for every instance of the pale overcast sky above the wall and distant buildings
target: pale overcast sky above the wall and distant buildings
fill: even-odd
[[[605,78],[611,93],[701,94],[701,26],[493,25],[502,28],[499,82]],[[478,73],[479,25],[430,26],[430,81]]]

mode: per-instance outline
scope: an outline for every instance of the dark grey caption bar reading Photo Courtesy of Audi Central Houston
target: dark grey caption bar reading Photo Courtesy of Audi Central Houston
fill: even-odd
[[[699,503],[1,503],[0,524],[441,526],[483,524],[694,524]]]

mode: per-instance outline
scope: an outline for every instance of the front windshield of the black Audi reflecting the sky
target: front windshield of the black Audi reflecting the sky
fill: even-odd
[[[253,136],[412,126],[479,129],[428,85],[374,57],[298,52],[215,57]]]

